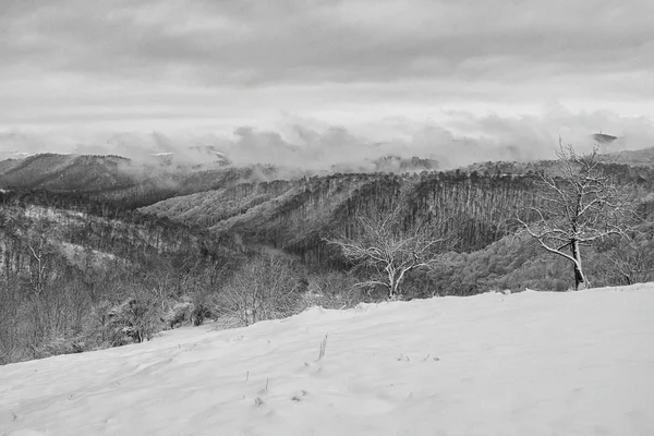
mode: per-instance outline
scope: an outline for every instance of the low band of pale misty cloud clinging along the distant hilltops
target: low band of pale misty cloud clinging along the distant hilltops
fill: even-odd
[[[378,131],[384,132],[382,141],[371,135]],[[230,135],[190,130],[57,137],[12,131],[0,134],[0,149],[118,154],[138,162],[156,162],[156,155],[172,153],[180,164],[206,164],[218,150],[237,166],[272,164],[306,171],[370,170],[373,160],[395,155],[432,158],[440,169],[450,169],[485,160],[553,158],[559,137],[585,152],[593,146],[591,135],[600,131],[619,136],[611,145],[616,152],[654,146],[650,119],[608,111],[573,113],[555,105],[541,114],[451,111],[441,122],[379,119],[351,128],[289,116],[277,129],[243,125]]]

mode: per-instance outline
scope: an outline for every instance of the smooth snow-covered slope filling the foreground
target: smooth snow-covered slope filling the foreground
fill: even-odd
[[[654,435],[654,283],[314,307],[1,366],[2,434]]]

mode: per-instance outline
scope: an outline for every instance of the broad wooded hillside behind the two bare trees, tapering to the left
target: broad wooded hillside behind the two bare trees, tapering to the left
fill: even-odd
[[[311,269],[347,268],[325,238],[356,234],[358,217],[384,210],[401,198],[407,225],[417,220],[441,225],[456,241],[452,251],[431,269],[408,278],[409,295],[474,294],[489,289],[567,290],[569,266],[543,252],[534,241],[516,237],[516,211],[538,206],[536,171],[554,171],[555,162],[489,162],[471,172],[420,174],[332,174],[295,181],[243,183],[179,196],[140,209],[235,238],[244,245],[265,245],[292,253]],[[584,249],[596,284],[649,280],[654,269],[654,170],[604,164],[643,222],[631,242],[607,239]]]

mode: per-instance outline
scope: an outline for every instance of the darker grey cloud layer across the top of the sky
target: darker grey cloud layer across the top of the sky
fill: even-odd
[[[210,85],[601,77],[651,73],[652,15],[647,0],[10,1],[0,55]]]

